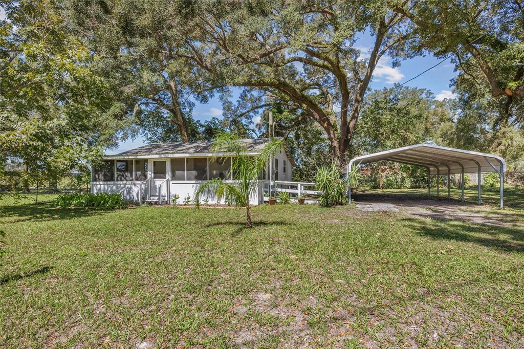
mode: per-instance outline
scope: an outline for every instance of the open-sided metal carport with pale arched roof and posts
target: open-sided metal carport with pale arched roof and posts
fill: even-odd
[[[446,148],[432,144],[416,144],[409,147],[397,148],[376,152],[374,154],[358,156],[347,164],[347,173],[353,165],[357,168],[366,163],[375,161],[394,161],[408,165],[422,166],[428,169],[428,190],[430,190],[431,175],[447,175],[447,198],[450,197],[450,174],[461,174],[462,201],[464,201],[464,173],[478,173],[478,204],[481,204],[481,172],[496,172],[500,180],[500,208],[504,207],[504,172],[506,162],[503,158],[484,154],[483,152],[463,149]],[[440,188],[436,187],[437,196]],[[351,186],[348,188],[348,197],[351,203]]]

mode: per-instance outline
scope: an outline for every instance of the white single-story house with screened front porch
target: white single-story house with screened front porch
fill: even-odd
[[[241,139],[247,155],[257,155],[269,138]],[[92,169],[92,193],[122,193],[126,201],[145,203],[171,203],[175,195],[178,203],[185,198],[194,199],[201,183],[213,178],[233,180],[231,157],[215,153],[211,141],[152,143],[117,155],[104,157],[102,163]],[[291,181],[295,166],[285,144],[260,173],[258,192],[250,203],[264,201],[264,181]],[[160,193],[160,195],[159,195]],[[215,197],[208,198],[216,203]]]

